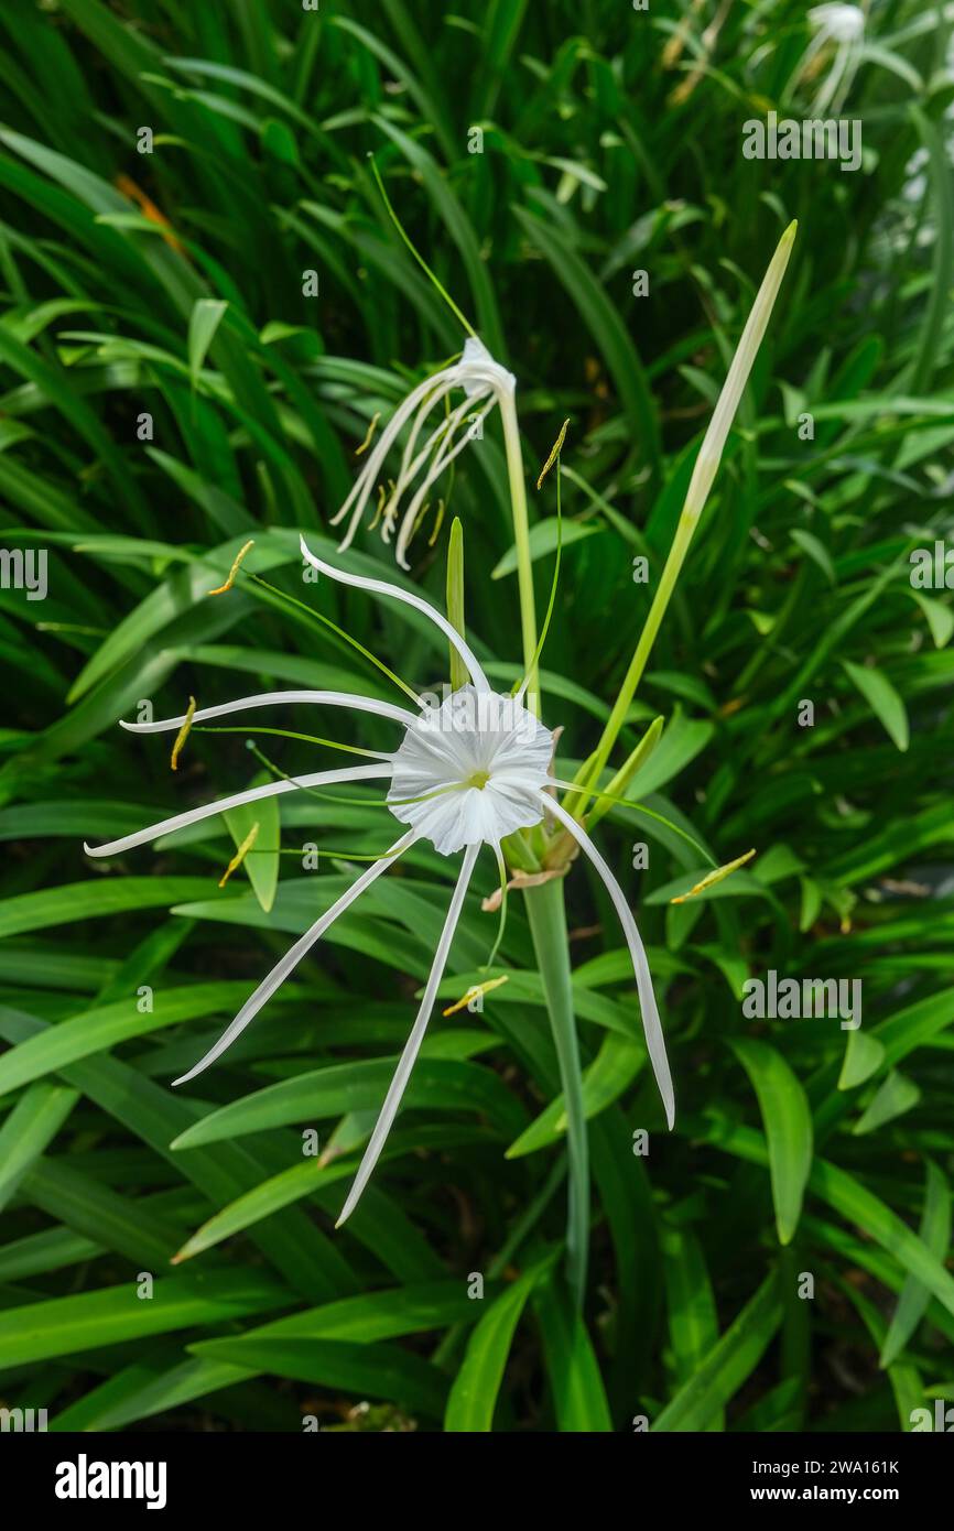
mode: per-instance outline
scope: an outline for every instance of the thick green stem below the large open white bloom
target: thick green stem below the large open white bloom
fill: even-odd
[[[553,1029],[553,1044],[564,1087],[567,1112],[567,1164],[570,1199],[567,1211],[567,1277],[576,1306],[583,1306],[586,1292],[586,1258],[590,1252],[590,1147],[583,1115],[583,1081],[580,1050],[573,1015],[573,984],[570,977],[570,940],[564,879],[525,888],[527,917],[536,952],[536,965],[544,983],[544,997]]]

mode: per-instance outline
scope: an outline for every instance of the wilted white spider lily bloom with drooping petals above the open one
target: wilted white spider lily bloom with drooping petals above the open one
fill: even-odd
[[[432,419],[435,409],[449,400],[455,389],[464,390],[464,401],[453,409],[447,409],[435,424]],[[407,545],[413,536],[421,507],[426,504],[427,491],[444,468],[453,462],[458,453],[476,435],[493,406],[511,400],[515,389],[516,378],[513,372],[507,372],[505,367],[495,361],[487,346],[476,335],[470,335],[464,343],[459,361],[443,367],[433,377],[418,383],[395,409],[368,462],[358,473],[351,495],[331,517],[331,525],[337,527],[351,513],[348,531],[340,545],[341,551],[351,547],[374,487],[381,481],[387,453],[397,442],[404,426],[410,423],[398,476],[381,507],[381,536],[384,542],[390,542],[401,510],[401,499],[410,485],[420,479],[413,498],[404,508],[395,548],[398,563],[407,568]],[[476,419],[472,418],[475,412]],[[424,435],[424,444],[418,447],[426,426],[429,426],[429,432]]]

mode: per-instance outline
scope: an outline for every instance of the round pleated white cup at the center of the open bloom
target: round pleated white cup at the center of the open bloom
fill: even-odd
[[[387,804],[443,854],[544,818],[553,733],[513,697],[461,686],[406,730]]]

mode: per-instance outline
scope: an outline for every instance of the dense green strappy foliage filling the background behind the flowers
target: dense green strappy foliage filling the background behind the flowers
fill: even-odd
[[[954,611],[943,565],[940,583],[910,577],[951,527],[954,6],[831,15],[850,9],[0,12],[0,1404],[47,1407],[63,1430],[851,1431],[908,1428],[954,1396]],[[851,43],[831,31],[845,24]],[[810,118],[819,100],[862,124],[856,171],[743,156],[747,119]],[[415,684],[447,678],[403,608],[300,580],[297,531],[334,548],[374,415],[462,341],[369,153],[518,375],[531,481],[571,421],[544,655],[564,762],[594,747],[755,286],[799,219],[623,738],[665,717],[629,796],[718,862],[758,854],[674,905],[704,870],[692,847],[637,808],[600,825],[662,998],[671,1136],[613,909],[582,865],[567,883],[594,1180],[582,1317],[519,899],[508,981],[482,1014],[435,1017],[334,1234],[456,863],[415,848],[201,1085],[170,1092],[348,885],[334,851],[374,854],[387,825],[372,804],[283,798],[268,830],[291,854],[256,862],[262,899],[245,871],[216,886],[247,825],[83,854],[248,785],[250,736],[285,772],[334,762],[243,727],[194,732],[173,776],[168,739],[116,727],[144,700],[168,717],[273,686],[387,695],[260,585],[205,599],[250,537],[248,570]],[[554,493],[553,476],[531,488],[550,533]],[[410,579],[443,602],[459,516],[469,634],[507,686],[519,614],[496,421],[441,495]],[[542,606],[553,537],[536,539]],[[352,566],[406,577],[375,533],[355,547]],[[47,554],[41,603],[15,588],[17,551]],[[384,747],[387,730],[348,738]],[[446,1004],[487,960],[495,876],[479,863]],[[861,980],[861,1029],[747,1020],[743,983],[770,969]],[[260,1095],[289,1079],[291,1102]]]

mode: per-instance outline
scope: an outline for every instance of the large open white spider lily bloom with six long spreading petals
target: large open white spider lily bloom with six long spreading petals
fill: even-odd
[[[384,1098],[377,1125],[364,1150],[364,1157],[345,1202],[338,1219],[340,1226],[354,1211],[398,1113],[410,1072],[424,1040],[438,984],[481,847],[488,845],[496,854],[498,865],[501,865],[501,841],[507,834],[513,834],[515,830],[531,828],[541,824],[548,813],[560,821],[583,854],[590,857],[597,874],[606,885],[606,891],[620,917],[626,945],[632,957],[649,1059],[666,1108],[666,1119],[669,1127],[672,1127],[675,1112],[672,1079],[655,997],[652,994],[646,952],[623,891],[609,871],[609,867],[586,831],[547,792],[553,785],[553,778],[550,776],[554,743],[551,730],[544,727],[524,707],[522,692],[511,697],[492,690],[467,641],[423,597],[384,580],[346,574],[343,570],[317,559],[306,547],[303,537],[302,554],[320,574],[326,574],[329,579],[351,585],[355,589],[368,591],[372,596],[384,596],[404,602],[423,611],[441,629],[449,643],[453,645],[470,675],[470,681],[446,697],[439,707],[423,706],[417,715],[386,701],[332,690],[277,690],[265,695],[242,697],[239,701],[224,703],[217,707],[202,707],[193,713],[194,723],[204,718],[219,718],[230,712],[280,703],[349,707],[355,712],[375,712],[390,720],[403,729],[403,736],[394,752],[381,755],[380,761],[369,766],[352,766],[340,770],[315,772],[296,779],[285,778],[268,782],[262,787],[240,792],[233,798],[224,798],[219,802],[191,808],[187,813],[176,813],[161,824],[153,824],[135,834],[112,841],[109,845],[100,845],[95,850],[89,845],[86,847],[90,856],[116,856],[121,851],[133,850],[136,845],[155,841],[161,834],[184,828],[187,824],[196,824],[239,804],[294,792],[297,787],[375,779],[389,781],[387,807],[400,824],[407,825],[406,833],[395,841],[390,850],[363,871],[351,888],[314,922],[311,929],[305,931],[268,977],[262,980],[214,1046],[188,1073],[176,1079],[175,1084],[185,1084],[187,1079],[194,1079],[198,1073],[208,1069],[231,1046],[265,1001],[276,992],[279,984],[283,983],[297,963],[311,951],[334,920],[337,920],[338,914],[343,914],[415,841],[430,841],[443,856],[462,851],[461,871],[424,986],[424,997],[410,1027],[410,1035],[398,1061],[390,1089]],[[162,733],[181,727],[182,721],[182,718],[167,718],[162,723],[127,723],[124,727],[132,733]]]

